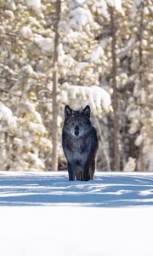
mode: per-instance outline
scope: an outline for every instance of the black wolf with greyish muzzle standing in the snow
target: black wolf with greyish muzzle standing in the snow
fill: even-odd
[[[97,132],[90,122],[90,107],[72,110],[65,106],[62,146],[67,160],[69,180],[94,179]]]

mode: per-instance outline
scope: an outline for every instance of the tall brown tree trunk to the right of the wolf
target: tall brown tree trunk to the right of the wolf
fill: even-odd
[[[112,84],[113,84],[113,109],[114,109],[114,170],[120,171],[120,150],[119,150],[119,114],[118,114],[118,93],[116,88],[116,26],[114,9],[111,8],[111,56],[112,56]]]

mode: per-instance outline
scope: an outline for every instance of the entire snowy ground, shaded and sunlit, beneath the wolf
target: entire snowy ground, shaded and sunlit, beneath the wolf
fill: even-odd
[[[1,256],[153,256],[153,173],[0,172]]]

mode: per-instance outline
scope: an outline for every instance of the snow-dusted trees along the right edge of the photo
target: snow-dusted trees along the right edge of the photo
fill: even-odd
[[[131,58],[129,79],[133,82],[133,90],[126,113],[130,120],[129,133],[134,136],[134,144],[137,146],[139,171],[152,169],[151,9],[152,3],[148,0],[133,1],[129,17],[132,32],[128,51]]]

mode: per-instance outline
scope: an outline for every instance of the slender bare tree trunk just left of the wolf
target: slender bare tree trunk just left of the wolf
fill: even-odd
[[[59,17],[60,17],[60,0],[56,1],[56,21],[55,21],[55,36],[54,36],[54,61],[53,61],[53,119],[52,119],[52,170],[58,171],[58,104],[57,104],[57,91],[58,91],[58,44],[59,44]]]

